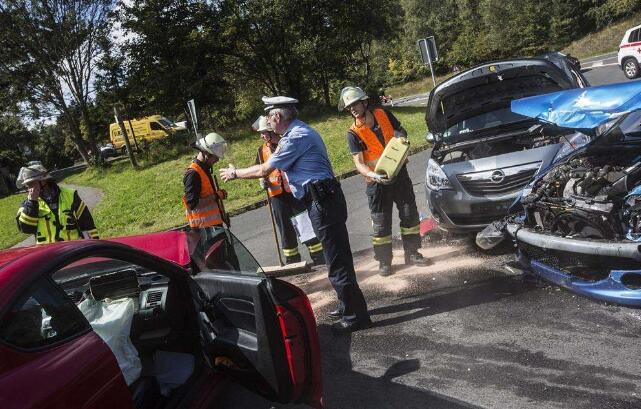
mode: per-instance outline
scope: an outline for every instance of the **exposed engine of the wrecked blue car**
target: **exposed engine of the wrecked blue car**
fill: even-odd
[[[567,238],[641,240],[639,152],[577,157],[524,196],[528,227]]]

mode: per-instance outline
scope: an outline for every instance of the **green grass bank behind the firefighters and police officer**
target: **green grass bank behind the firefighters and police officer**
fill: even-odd
[[[424,108],[394,108],[394,114],[407,129],[412,146],[425,144]],[[304,118],[303,118],[304,119]],[[354,166],[345,135],[351,124],[347,115],[326,114],[309,121],[323,137],[336,174],[351,171]],[[228,163],[246,167],[254,163],[260,139],[247,130],[226,133],[229,155],[214,166],[215,171]],[[142,164],[134,170],[129,162],[119,162],[108,169],[89,169],[70,176],[65,183],[92,186],[104,192],[102,201],[92,212],[101,237],[112,237],[159,231],[185,223],[182,208],[182,176],[192,154],[181,155],[157,165]],[[222,183],[229,198],[227,210],[234,212],[265,198],[256,180]],[[15,214],[15,209],[13,210]]]

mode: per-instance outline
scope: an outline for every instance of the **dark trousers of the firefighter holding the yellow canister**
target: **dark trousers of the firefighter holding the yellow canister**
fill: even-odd
[[[416,252],[421,247],[420,221],[412,180],[403,166],[396,179],[389,185],[367,184],[367,202],[372,216],[374,234],[374,258],[383,263],[392,262],[392,210],[396,203],[401,219],[401,238],[405,254]]]

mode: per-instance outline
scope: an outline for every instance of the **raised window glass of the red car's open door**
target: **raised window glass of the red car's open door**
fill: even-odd
[[[189,229],[190,257],[199,271],[264,276],[258,261],[228,229]]]

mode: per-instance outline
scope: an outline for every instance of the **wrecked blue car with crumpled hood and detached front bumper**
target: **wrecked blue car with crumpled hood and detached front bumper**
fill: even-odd
[[[591,142],[541,171],[477,243],[506,231],[533,274],[641,307],[641,81],[523,98],[511,110]]]

